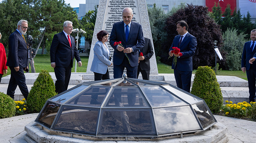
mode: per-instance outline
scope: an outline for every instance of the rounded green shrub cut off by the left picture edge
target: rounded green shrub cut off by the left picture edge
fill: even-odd
[[[0,118],[8,118],[15,115],[15,102],[9,96],[0,92]]]

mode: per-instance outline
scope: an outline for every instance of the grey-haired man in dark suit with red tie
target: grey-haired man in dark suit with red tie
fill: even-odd
[[[53,36],[50,49],[51,66],[57,79],[55,92],[58,94],[68,89],[74,57],[79,61],[78,66],[82,66],[79,52],[75,47],[75,39],[70,35],[73,30],[72,24],[71,21],[63,23],[63,31]]]

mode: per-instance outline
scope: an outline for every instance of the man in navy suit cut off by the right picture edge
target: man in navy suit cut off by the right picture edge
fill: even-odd
[[[251,31],[251,41],[244,43],[241,67],[242,71],[245,73],[248,79],[249,88],[249,102],[255,102],[256,99],[256,29]]]

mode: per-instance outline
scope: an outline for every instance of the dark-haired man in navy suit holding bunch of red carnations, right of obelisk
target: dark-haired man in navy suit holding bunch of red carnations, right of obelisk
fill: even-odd
[[[197,39],[188,33],[188,25],[184,20],[176,22],[179,35],[175,36],[172,45],[169,49],[169,55],[177,57],[177,63],[174,66],[172,62],[172,69],[174,69],[174,77],[177,87],[184,91],[190,92],[191,76],[193,70],[192,57],[195,54],[197,47]],[[172,47],[180,48],[182,56],[171,53]]]

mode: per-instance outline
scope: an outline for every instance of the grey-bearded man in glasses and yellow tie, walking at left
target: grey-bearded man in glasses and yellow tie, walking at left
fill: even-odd
[[[19,20],[17,29],[9,36],[9,53],[6,66],[11,70],[11,78],[9,81],[7,95],[14,99],[14,93],[19,86],[22,95],[27,100],[28,88],[24,70],[27,70],[28,63],[28,45],[24,34],[28,30],[28,21]]]

